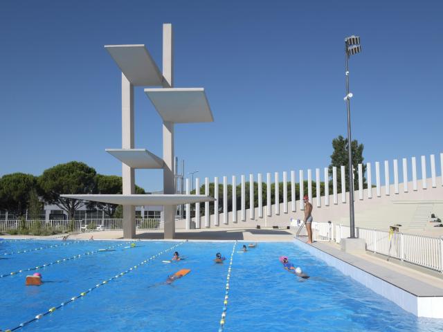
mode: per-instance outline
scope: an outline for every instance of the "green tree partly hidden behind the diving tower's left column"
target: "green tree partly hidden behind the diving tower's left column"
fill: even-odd
[[[123,181],[121,176],[115,175],[102,175],[97,174],[96,176],[97,191],[98,194],[122,194],[123,192]],[[145,194],[145,190],[142,187],[136,185],[136,194]],[[100,203],[91,202],[88,203],[88,208],[97,208],[99,210],[105,210],[105,213],[109,218],[114,217],[118,205],[111,203]],[[121,216],[120,216],[121,218]]]

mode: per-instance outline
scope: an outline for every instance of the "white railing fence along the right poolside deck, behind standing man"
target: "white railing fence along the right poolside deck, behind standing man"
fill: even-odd
[[[350,227],[333,223],[313,223],[316,241],[335,241],[350,236]],[[366,250],[443,273],[443,238],[386,230],[355,228],[355,234],[365,239]]]

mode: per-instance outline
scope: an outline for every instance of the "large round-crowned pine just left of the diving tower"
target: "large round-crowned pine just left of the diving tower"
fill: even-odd
[[[45,201],[66,211],[70,219],[74,219],[75,211],[87,203],[60,197],[60,194],[94,194],[97,191],[96,170],[77,161],[46,169],[38,183]]]

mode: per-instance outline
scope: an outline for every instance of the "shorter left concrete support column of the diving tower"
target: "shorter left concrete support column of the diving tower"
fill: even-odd
[[[122,73],[122,148],[134,149],[134,86]],[[134,168],[122,164],[123,194],[135,194]],[[123,205],[123,237],[136,237],[136,209]]]

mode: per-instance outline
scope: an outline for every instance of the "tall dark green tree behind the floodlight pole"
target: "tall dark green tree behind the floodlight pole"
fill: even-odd
[[[347,138],[343,138],[343,136],[338,136],[332,140],[332,147],[334,151],[331,155],[331,164],[329,165],[329,174],[332,173],[332,167],[337,167],[337,177],[341,172],[341,166],[345,166],[345,183],[346,190],[349,191],[349,163],[348,163],[348,151],[349,146],[347,144]],[[366,165],[363,164],[363,144],[359,144],[357,140],[352,140],[351,151],[352,151],[352,166],[354,168],[354,189],[359,186],[359,172],[358,165],[361,164],[363,167],[363,174],[366,172]],[[341,174],[340,174],[341,176]],[[363,183],[365,183],[366,179],[363,175]],[[330,185],[332,187],[332,184]],[[341,192],[341,181],[337,181],[338,192]]]

